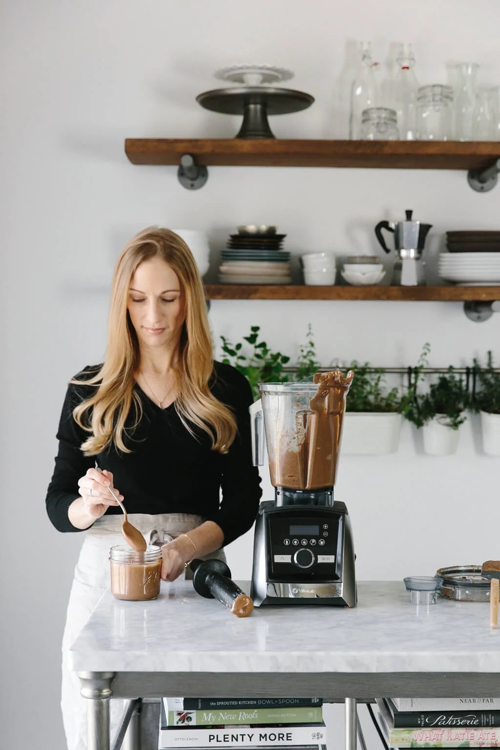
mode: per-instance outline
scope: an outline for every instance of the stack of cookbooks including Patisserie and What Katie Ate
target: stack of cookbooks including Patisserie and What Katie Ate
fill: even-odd
[[[500,697],[376,700],[390,748],[500,747]]]

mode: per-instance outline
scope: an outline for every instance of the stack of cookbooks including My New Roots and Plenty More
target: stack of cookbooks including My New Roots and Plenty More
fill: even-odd
[[[322,698],[164,697],[158,748],[294,748],[324,745]]]

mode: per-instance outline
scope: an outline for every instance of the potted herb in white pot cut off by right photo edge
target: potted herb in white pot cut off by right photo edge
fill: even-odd
[[[493,353],[487,353],[487,366],[474,360],[476,388],[472,409],[479,412],[483,450],[489,456],[500,456],[500,373],[495,372]]]

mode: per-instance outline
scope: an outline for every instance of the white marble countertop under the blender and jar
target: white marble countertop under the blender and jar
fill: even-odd
[[[248,581],[238,582],[250,592]],[[490,605],[418,606],[403,581],[358,581],[358,607],[259,607],[239,619],[192,583],[154,601],[106,590],[70,650],[74,670],[131,672],[500,673]]]

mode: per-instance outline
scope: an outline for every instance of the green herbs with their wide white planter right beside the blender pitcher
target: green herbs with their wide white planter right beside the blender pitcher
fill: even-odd
[[[403,417],[402,396],[397,388],[388,389],[385,371],[369,362],[349,365],[354,370],[346,401],[341,450],[347,455],[394,453],[400,443]]]

